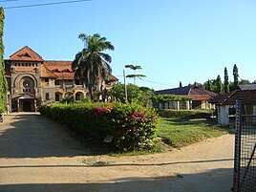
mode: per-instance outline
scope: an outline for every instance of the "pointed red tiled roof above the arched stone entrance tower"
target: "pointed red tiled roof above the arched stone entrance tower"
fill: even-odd
[[[25,46],[21,48],[19,51],[11,54],[8,60],[16,60],[16,61],[43,61],[42,56],[38,53],[32,51],[31,48]]]

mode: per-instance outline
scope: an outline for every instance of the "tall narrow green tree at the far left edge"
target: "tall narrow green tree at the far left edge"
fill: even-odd
[[[7,96],[7,79],[5,76],[5,63],[4,63],[4,20],[5,20],[5,11],[0,8],[0,113],[5,109],[6,96]]]

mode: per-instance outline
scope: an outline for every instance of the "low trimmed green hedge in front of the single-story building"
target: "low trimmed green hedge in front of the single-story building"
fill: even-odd
[[[159,110],[158,114],[160,117],[209,117],[212,114],[212,111],[163,109]]]

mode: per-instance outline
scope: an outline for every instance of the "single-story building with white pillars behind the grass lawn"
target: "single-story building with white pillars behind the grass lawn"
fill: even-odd
[[[156,95],[175,95],[191,98],[187,101],[172,101],[169,103],[160,104],[160,108],[167,109],[214,109],[215,106],[212,103],[209,103],[208,100],[217,96],[213,92],[203,90],[202,88],[194,85],[179,87],[174,89],[166,89],[155,92]]]

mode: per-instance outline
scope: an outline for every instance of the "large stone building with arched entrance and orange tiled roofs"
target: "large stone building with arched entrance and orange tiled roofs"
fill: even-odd
[[[60,101],[65,96],[81,100],[88,89],[72,71],[72,61],[44,60],[28,46],[5,60],[9,84],[8,104],[12,112],[34,112],[42,104]],[[109,76],[103,83],[111,89],[117,77]],[[102,96],[101,96],[102,99]]]

